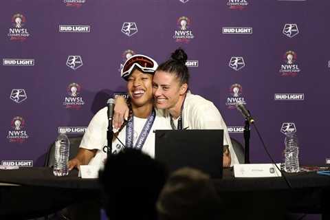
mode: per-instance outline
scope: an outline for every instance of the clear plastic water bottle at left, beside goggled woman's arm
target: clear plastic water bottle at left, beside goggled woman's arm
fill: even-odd
[[[69,138],[65,133],[60,133],[55,142],[54,175],[59,177],[68,175],[67,162],[69,161],[69,152]]]

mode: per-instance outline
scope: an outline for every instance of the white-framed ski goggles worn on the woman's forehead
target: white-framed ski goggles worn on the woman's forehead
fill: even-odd
[[[123,65],[121,76],[124,80],[127,80],[131,76],[133,69],[138,67],[142,72],[146,74],[155,74],[158,67],[156,61],[148,56],[136,54],[131,56]]]

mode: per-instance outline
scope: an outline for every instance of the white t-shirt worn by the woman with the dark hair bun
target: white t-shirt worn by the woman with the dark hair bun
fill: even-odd
[[[175,126],[177,126],[177,122]],[[182,111],[182,128],[186,129],[187,127],[188,129],[223,129],[223,145],[229,146],[230,157],[232,159],[231,166],[239,164],[239,160],[232,148],[232,142],[230,141],[225,121],[213,102],[188,92]]]

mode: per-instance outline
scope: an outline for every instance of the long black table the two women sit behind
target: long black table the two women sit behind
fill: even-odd
[[[287,179],[292,189],[280,177],[234,178],[232,170],[225,169],[223,179],[214,179],[214,185],[226,206],[237,210],[237,217],[257,219],[259,214],[262,219],[272,213],[268,219],[276,219],[276,210],[291,210],[322,213],[323,219],[329,218],[330,177],[312,172],[287,174]],[[99,192],[98,179],[81,179],[77,170],[67,177],[54,177],[52,169],[44,167],[0,170],[0,217],[51,213],[82,199],[100,199]]]

